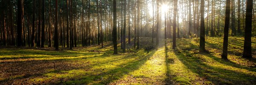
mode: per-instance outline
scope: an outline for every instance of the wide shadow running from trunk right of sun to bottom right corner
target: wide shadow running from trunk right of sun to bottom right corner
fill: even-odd
[[[212,81],[216,85],[236,85],[236,84],[254,84],[256,81],[255,76],[251,76],[242,72],[231,71],[218,67],[213,67],[205,64],[204,60],[199,57],[186,57],[189,53],[180,53],[180,50],[175,51],[177,58],[186,67],[189,67],[192,72],[199,74],[200,77],[204,77],[209,81]]]

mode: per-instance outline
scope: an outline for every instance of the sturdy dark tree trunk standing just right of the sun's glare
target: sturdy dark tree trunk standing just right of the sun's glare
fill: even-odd
[[[177,11],[178,11],[178,4],[177,0],[173,0],[173,35],[172,35],[172,49],[176,48],[176,18],[177,18]]]

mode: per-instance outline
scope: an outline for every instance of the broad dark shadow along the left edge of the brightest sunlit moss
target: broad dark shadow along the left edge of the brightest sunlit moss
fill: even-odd
[[[139,69],[147,61],[148,58],[150,58],[151,56],[153,56],[153,54],[155,54],[155,52],[156,51],[152,51],[145,57],[138,57],[139,59],[121,64],[117,68],[107,69],[108,71],[105,71],[105,72],[102,72],[99,74],[78,74],[78,75],[74,76],[74,77],[79,77],[75,80],[72,78],[69,78],[66,82],[50,82],[47,84],[60,85],[60,84],[74,83],[74,84],[93,84],[93,85],[104,84],[104,85],[108,85],[109,83],[120,79],[125,74],[129,74],[130,72],[133,72],[133,71]],[[102,71],[102,70],[95,70],[95,72],[99,72],[99,71]],[[83,77],[81,77],[81,76],[83,76]],[[97,82],[95,82],[95,81],[97,81]]]

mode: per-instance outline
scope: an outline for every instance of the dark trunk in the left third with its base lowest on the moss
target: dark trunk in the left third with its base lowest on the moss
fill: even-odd
[[[58,0],[55,0],[55,26],[54,26],[54,46],[58,51]]]

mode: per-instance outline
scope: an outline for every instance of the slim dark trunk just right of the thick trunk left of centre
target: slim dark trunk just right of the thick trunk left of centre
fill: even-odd
[[[125,53],[125,31],[126,31],[126,0],[124,0],[125,4],[125,8],[124,8],[124,26],[123,26],[123,52]]]

